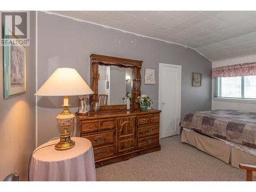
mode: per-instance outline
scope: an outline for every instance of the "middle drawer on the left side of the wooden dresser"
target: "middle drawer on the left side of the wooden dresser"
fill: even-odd
[[[114,144],[114,132],[83,136],[92,142],[93,147]]]

